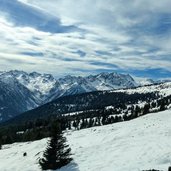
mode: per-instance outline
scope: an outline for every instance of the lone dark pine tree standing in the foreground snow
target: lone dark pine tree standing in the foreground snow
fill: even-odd
[[[42,170],[56,170],[71,162],[71,148],[66,144],[66,138],[63,137],[60,124],[53,123],[52,136],[49,140],[48,147],[39,160]]]

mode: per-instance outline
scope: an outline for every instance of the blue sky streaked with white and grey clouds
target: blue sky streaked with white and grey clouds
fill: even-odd
[[[0,68],[169,78],[170,0],[0,0]]]

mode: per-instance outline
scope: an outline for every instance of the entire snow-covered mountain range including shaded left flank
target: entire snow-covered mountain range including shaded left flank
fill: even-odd
[[[61,96],[131,88],[137,83],[130,75],[101,73],[87,77],[65,76],[24,71],[0,72],[0,120],[6,120]]]

